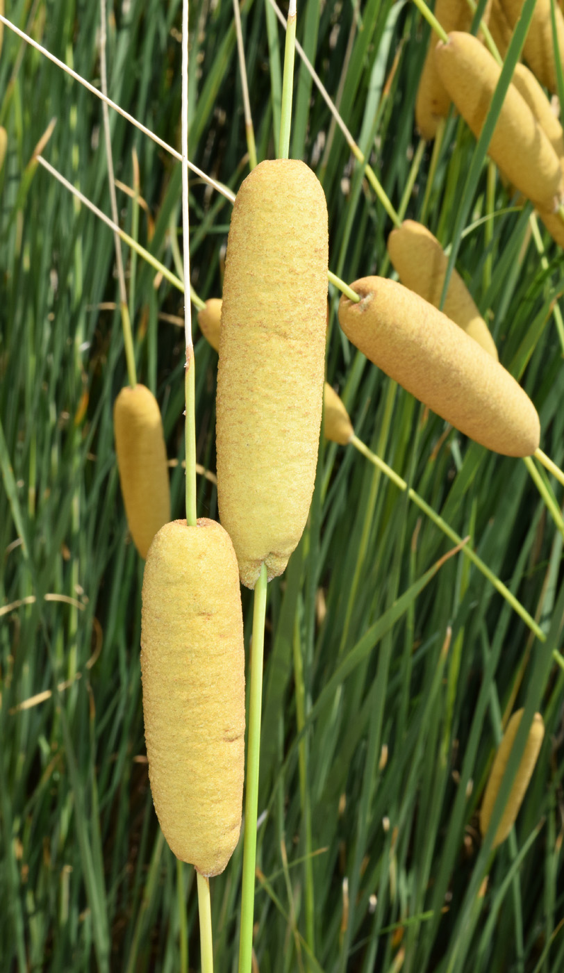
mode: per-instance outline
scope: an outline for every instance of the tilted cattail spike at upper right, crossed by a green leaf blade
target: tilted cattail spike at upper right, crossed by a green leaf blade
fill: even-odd
[[[442,83],[476,138],[481,132],[501,68],[472,34],[453,33],[438,44]],[[560,162],[521,94],[510,85],[488,154],[513,186],[544,209],[558,207],[564,184]]]

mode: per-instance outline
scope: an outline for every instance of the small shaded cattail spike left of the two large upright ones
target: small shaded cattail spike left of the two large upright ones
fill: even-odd
[[[114,405],[114,432],[125,516],[142,558],[170,520],[166,447],[159,403],[145,385],[126,386]]]

